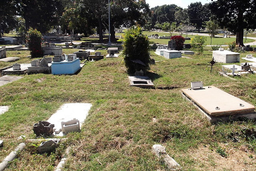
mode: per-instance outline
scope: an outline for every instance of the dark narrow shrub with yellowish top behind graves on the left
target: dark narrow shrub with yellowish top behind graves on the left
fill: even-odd
[[[26,42],[32,58],[42,56],[42,34],[36,29],[29,29],[26,34]]]

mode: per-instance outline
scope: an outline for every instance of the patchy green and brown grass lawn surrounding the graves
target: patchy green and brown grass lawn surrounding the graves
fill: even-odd
[[[223,63],[210,73],[211,47],[191,59],[165,59],[152,50],[156,65],[147,75],[155,89],[129,86],[122,57],[86,62],[76,75],[23,75],[1,86],[0,105],[10,109],[0,115],[0,161],[19,143],[26,147],[5,169],[48,170],[58,165],[71,147],[63,171],[165,171],[166,166],[151,148],[161,144],[177,161],[182,171],[256,170],[256,124],[254,121],[211,125],[191,103],[182,99],[181,89],[190,82],[216,86],[256,106],[256,76],[241,75],[232,80],[222,77]],[[77,49],[63,49],[72,53]],[[98,50],[97,50],[98,51]],[[99,50],[106,55],[106,50]],[[20,52],[20,54],[17,54]],[[255,52],[240,54],[241,59]],[[28,51],[7,51],[7,57],[20,57],[30,63]],[[0,62],[0,68],[13,63]],[[236,63],[239,65],[239,63]],[[209,98],[211,98],[209,96]],[[220,97],[221,98],[221,97]],[[70,133],[60,147],[49,154],[38,154],[32,126],[48,120],[64,103],[92,103],[80,133]],[[21,135],[26,138],[17,140]]]

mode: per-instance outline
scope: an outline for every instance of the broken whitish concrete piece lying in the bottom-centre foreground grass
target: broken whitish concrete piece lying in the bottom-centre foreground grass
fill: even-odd
[[[152,146],[152,152],[159,158],[164,161],[168,169],[174,171],[180,169],[180,165],[168,155],[165,151],[165,147],[160,144],[155,144]]]

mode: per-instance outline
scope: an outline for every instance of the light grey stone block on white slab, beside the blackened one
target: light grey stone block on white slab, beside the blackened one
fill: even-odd
[[[67,122],[61,122],[62,132],[80,132],[80,122],[76,118]]]

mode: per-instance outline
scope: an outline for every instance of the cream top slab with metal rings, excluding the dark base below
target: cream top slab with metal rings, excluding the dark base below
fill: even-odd
[[[251,104],[215,86],[204,86],[194,90],[186,88],[182,89],[182,92],[210,116],[252,114],[255,110]]]

